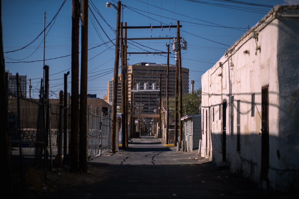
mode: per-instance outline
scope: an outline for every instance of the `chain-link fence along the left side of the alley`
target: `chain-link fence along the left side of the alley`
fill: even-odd
[[[19,107],[17,105],[19,101]],[[66,136],[60,137],[59,120],[60,120],[60,104],[59,99],[50,99],[50,125],[49,134],[47,135],[49,155],[53,158],[57,155],[60,143],[64,143],[64,138],[67,138],[66,146],[69,148],[69,131],[70,131],[70,115],[71,108],[67,114],[67,129]],[[39,122],[39,100],[38,99],[9,99],[9,139],[12,147],[12,155],[26,155],[35,156],[35,148],[38,141],[38,134],[40,132]],[[19,109],[19,114],[18,114]],[[111,113],[103,114],[100,107],[87,108],[87,157],[90,158],[95,155],[104,155],[110,152],[111,139]],[[19,120],[19,125],[18,125]],[[62,132],[63,134],[65,132]],[[62,141],[60,142],[60,138]],[[45,145],[45,142],[39,143]],[[42,149],[44,146],[41,147]],[[23,150],[22,150],[23,149]]]

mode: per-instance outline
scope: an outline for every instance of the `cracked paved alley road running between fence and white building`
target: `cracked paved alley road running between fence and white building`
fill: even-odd
[[[115,154],[93,157],[88,165],[93,169],[88,176],[96,176],[96,181],[59,191],[56,199],[295,198],[295,194],[267,194],[202,158],[198,150],[177,151],[152,136],[133,138],[126,149],[120,146]]]

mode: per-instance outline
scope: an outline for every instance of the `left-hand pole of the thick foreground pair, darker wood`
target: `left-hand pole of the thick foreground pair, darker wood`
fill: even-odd
[[[79,0],[72,0],[72,89],[71,89],[71,142],[70,166],[71,171],[79,168]]]

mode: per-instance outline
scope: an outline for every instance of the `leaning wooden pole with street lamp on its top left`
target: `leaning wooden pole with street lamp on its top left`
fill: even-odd
[[[117,10],[116,20],[116,42],[115,42],[115,62],[114,62],[114,78],[112,90],[112,126],[111,126],[111,149],[115,153],[115,140],[116,140],[116,110],[117,110],[117,87],[118,87],[118,65],[119,65],[119,50],[120,50],[120,8],[121,1],[117,2],[117,7],[110,2],[106,3],[106,7],[113,6]]]

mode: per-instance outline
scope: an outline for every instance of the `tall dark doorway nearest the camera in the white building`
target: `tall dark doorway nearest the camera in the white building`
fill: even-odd
[[[262,166],[261,178],[268,181],[269,169],[269,98],[268,86],[262,87]]]

